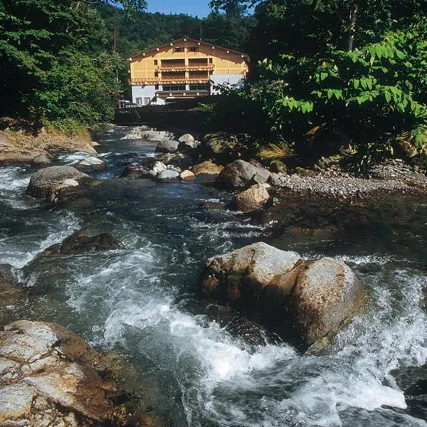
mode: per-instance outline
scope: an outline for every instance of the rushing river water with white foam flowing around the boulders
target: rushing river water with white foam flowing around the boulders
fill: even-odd
[[[153,156],[154,144],[122,135],[104,135],[107,168],[97,179],[115,180],[128,162]],[[111,181],[92,203],[49,210],[24,193],[31,172],[0,169],[0,262],[18,269],[34,297],[7,307],[4,321],[52,320],[93,345],[120,349],[137,367],[145,404],[172,426],[427,426],[406,410],[391,375],[426,363],[423,238],[395,230],[272,238],[231,211],[200,211],[201,201],[229,196],[198,182]],[[38,258],[80,228],[108,231],[126,248]],[[204,260],[254,241],[332,256],[356,270],[381,265],[376,273],[360,269],[371,292],[367,310],[324,354],[299,354],[236,312],[200,300]]]

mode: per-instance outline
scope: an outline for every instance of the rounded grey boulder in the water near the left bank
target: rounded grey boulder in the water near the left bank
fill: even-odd
[[[81,181],[90,179],[72,166],[51,166],[41,169],[31,176],[27,191],[36,197],[44,197],[58,184],[63,184],[66,179],[73,179],[79,184]]]

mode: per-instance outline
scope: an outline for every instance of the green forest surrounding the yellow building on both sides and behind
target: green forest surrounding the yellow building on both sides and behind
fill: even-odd
[[[425,149],[426,0],[212,0],[205,19],[146,6],[1,0],[1,115],[64,130],[111,120],[127,57],[185,35],[250,54],[245,90],[201,108],[258,147],[334,132],[361,162],[399,140]]]

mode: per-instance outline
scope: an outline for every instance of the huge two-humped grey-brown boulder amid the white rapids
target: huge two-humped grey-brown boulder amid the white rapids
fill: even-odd
[[[365,295],[346,264],[303,260],[265,243],[207,260],[201,289],[273,327],[300,349],[338,332],[361,310]]]

